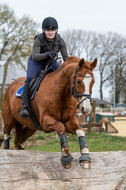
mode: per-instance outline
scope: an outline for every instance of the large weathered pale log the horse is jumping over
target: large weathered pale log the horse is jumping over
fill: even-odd
[[[79,166],[72,153],[70,169],[61,153],[0,150],[0,190],[125,190],[126,151],[91,152],[91,169]]]

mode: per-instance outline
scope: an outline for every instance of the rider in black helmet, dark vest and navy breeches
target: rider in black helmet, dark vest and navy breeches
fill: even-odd
[[[52,66],[55,71],[60,67],[60,63],[55,61],[58,51],[61,52],[63,60],[68,58],[66,44],[57,33],[58,23],[55,18],[47,17],[42,22],[42,33],[35,36],[32,54],[28,61],[27,79],[23,87],[22,104],[23,108],[20,111],[22,117],[29,117],[28,98],[29,98],[29,83],[41,70],[48,66]]]

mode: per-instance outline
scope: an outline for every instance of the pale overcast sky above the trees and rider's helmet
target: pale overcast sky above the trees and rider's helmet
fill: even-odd
[[[55,17],[59,32],[68,29],[116,32],[126,35],[126,0],[1,0],[17,17],[30,16],[40,24]]]

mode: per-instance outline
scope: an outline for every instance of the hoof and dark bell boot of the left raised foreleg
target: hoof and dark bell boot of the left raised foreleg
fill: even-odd
[[[69,156],[63,156],[61,157],[61,164],[65,169],[71,168],[73,157],[69,154]]]

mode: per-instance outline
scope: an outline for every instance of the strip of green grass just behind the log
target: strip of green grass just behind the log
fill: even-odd
[[[76,135],[67,134],[70,152],[80,152]],[[60,152],[59,137],[56,133],[38,133],[36,139],[40,142],[37,146],[27,147],[27,150]],[[31,140],[31,138],[30,138]],[[41,141],[42,140],[42,141]],[[102,151],[126,151],[126,137],[112,136],[105,133],[91,133],[86,135],[86,141],[90,152]]]

